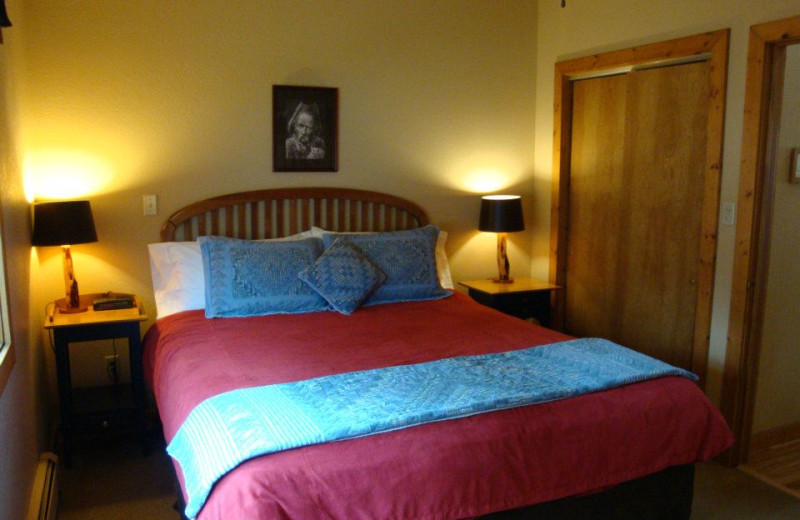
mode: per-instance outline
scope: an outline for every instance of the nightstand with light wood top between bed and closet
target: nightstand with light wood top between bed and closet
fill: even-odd
[[[495,283],[492,280],[470,280],[458,282],[469,290],[476,302],[517,318],[535,318],[549,327],[550,293],[560,289],[533,278],[516,278],[511,283]]]

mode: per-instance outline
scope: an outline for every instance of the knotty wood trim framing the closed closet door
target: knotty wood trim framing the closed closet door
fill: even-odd
[[[550,282],[566,286],[566,242],[569,218],[570,145],[572,136],[572,82],[624,67],[658,64],[691,56],[710,63],[710,95],[706,141],[705,187],[701,224],[700,266],[697,279],[692,371],[705,384],[711,331],[711,304],[717,250],[722,138],[725,127],[725,93],[730,30],[722,29],[666,42],[631,47],[558,62],[555,65],[553,117],[553,183],[550,209]],[[554,295],[555,324],[564,326],[565,293]]]

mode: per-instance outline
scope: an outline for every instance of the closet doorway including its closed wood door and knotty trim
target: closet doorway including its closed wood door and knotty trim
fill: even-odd
[[[653,343],[646,339],[649,329],[663,336],[658,341],[663,345],[643,351],[691,369],[702,381],[711,321],[727,47],[724,30],[556,64],[550,279],[564,287],[556,295],[556,324],[570,333],[602,335],[634,347]],[[684,81],[698,87],[686,104],[703,100],[695,113],[674,109]],[[607,97],[620,90],[633,97]],[[589,93],[588,103],[586,91],[597,91]],[[591,110],[584,113],[587,107],[611,117],[600,122]],[[689,125],[692,136],[685,143],[667,143],[668,135],[679,140],[681,132],[659,134],[653,125],[659,115],[659,124],[685,118],[674,128]],[[576,146],[587,142],[576,153]],[[672,149],[683,157],[671,170]],[[583,170],[588,163],[595,172],[614,175],[587,178]],[[695,168],[694,174],[685,171],[688,167]],[[648,190],[651,171],[655,182]],[[678,179],[676,172],[688,176]],[[699,185],[683,191],[687,179]],[[694,213],[684,223],[685,204]],[[654,209],[664,210],[666,218]],[[681,233],[672,232],[687,226],[691,244],[673,240]],[[644,249],[633,252],[631,244]],[[636,257],[641,251],[649,257]],[[659,251],[687,261],[676,267],[658,258]],[[609,278],[598,290],[597,282]],[[585,289],[587,281],[591,286]],[[626,314],[626,308],[632,312]],[[653,318],[644,327],[636,324],[642,310]],[[587,316],[590,326],[582,323]],[[668,350],[680,336],[684,346],[679,352]]]

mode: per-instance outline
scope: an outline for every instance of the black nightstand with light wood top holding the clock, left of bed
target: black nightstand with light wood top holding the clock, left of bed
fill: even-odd
[[[63,461],[72,464],[76,437],[112,430],[132,430],[147,453],[145,388],[142,371],[142,341],[139,324],[147,319],[139,298],[135,307],[95,311],[91,302],[102,293],[81,295],[86,312],[64,314],[55,305],[48,311],[44,328],[52,331],[55,344],[58,399],[61,415]],[[85,341],[127,338],[130,351],[130,385],[72,388],[69,352]]]

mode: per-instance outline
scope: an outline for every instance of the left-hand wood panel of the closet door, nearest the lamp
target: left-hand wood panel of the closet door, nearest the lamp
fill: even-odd
[[[620,237],[625,138],[625,76],[576,81],[572,108],[566,328],[576,336],[612,337],[619,306],[615,280]]]

